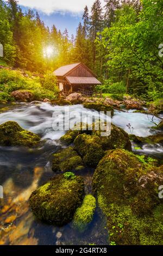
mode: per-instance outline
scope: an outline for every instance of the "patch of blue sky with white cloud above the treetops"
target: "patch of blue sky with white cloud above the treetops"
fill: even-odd
[[[89,10],[95,0],[18,0],[23,11],[33,9],[38,11],[41,20],[50,28],[54,24],[57,29],[64,32],[65,28],[68,33],[76,34],[76,29],[80,21],[84,7],[87,5]],[[101,0],[102,6],[104,0]]]

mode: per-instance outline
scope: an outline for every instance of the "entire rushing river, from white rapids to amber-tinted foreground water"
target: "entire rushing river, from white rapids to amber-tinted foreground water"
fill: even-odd
[[[84,234],[79,234],[72,228],[71,223],[58,228],[54,225],[36,220],[29,209],[30,193],[39,185],[44,184],[54,176],[51,170],[52,154],[61,148],[59,138],[64,131],[53,128],[54,121],[61,123],[66,111],[82,113],[84,121],[91,123],[99,114],[82,105],[52,106],[49,103],[32,102],[18,103],[0,107],[0,124],[6,121],[16,121],[24,129],[37,133],[42,138],[39,148],[26,149],[21,147],[0,147],[0,185],[3,185],[3,211],[0,215],[0,245],[105,245],[108,243],[108,233],[105,221],[97,209],[94,219]],[[60,114],[59,114],[60,113]],[[71,121],[74,117],[70,118]],[[76,117],[80,121],[80,116]],[[122,127],[128,133],[147,137],[155,134],[152,129],[152,115],[115,111],[112,123]],[[153,122],[160,119],[154,117]],[[131,125],[131,129],[128,128]],[[46,141],[43,141],[46,139]],[[143,145],[137,154],[152,155],[161,158],[161,145]],[[84,176],[85,192],[91,193],[91,178],[93,170],[85,169],[79,173]],[[2,199],[0,199],[2,200]],[[0,202],[1,203],[1,202]],[[1,205],[0,205],[1,206]]]

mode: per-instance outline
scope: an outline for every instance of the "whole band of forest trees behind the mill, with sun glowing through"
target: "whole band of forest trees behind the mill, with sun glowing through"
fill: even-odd
[[[85,7],[76,35],[69,35],[47,27],[33,10],[23,13],[17,1],[0,0],[1,59],[41,74],[83,62],[105,92],[126,85],[126,93],[156,100],[163,96],[162,10],[162,0],[105,0],[104,8],[96,0],[91,10]]]

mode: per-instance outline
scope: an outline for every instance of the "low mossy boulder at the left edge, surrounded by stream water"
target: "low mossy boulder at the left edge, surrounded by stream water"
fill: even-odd
[[[33,147],[40,142],[40,137],[22,129],[15,121],[0,125],[0,144],[3,146],[22,145]]]

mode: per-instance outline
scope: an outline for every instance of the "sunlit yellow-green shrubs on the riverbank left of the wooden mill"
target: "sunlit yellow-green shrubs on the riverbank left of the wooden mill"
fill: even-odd
[[[26,90],[33,95],[33,100],[57,98],[59,90],[55,76],[46,75],[44,78],[33,77],[32,74],[23,75],[18,70],[0,70],[0,103],[13,101],[11,93]]]

